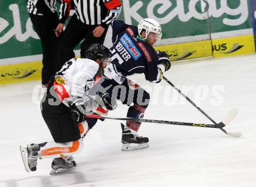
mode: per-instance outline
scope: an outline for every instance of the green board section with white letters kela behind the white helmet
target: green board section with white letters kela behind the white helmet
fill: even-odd
[[[179,38],[209,34],[208,14],[202,4],[193,0],[123,1],[122,19],[137,25],[145,18],[157,20],[163,30],[162,38]]]

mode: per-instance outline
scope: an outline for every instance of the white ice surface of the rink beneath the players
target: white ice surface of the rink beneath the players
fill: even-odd
[[[173,63],[166,77],[221,122],[232,108],[237,117],[225,127],[241,131],[233,138],[219,129],[143,123],[139,134],[150,147],[123,152],[118,120],[98,122],[74,158],[75,170],[51,176],[51,160],[38,160],[26,173],[19,145],[51,140],[33,94],[40,81],[0,86],[0,186],[256,186],[256,55]],[[211,123],[164,80],[155,85],[143,75],[131,77],[151,94],[145,119]],[[125,117],[119,104],[109,116]]]

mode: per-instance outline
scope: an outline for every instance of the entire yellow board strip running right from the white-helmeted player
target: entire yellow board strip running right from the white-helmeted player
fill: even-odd
[[[172,61],[209,56],[225,57],[255,52],[254,35],[157,46],[155,49],[168,53]]]

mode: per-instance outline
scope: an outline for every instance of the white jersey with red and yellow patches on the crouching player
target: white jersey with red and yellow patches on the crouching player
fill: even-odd
[[[56,72],[54,89],[60,100],[69,107],[69,102],[77,97],[83,98],[86,111],[97,108],[99,96],[88,96],[86,91],[93,87],[94,76],[99,64],[88,58],[72,58],[60,71]]]

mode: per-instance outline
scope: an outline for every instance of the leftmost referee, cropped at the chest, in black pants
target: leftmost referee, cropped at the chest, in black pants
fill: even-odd
[[[58,38],[55,28],[59,24],[56,0],[26,0],[27,11],[34,25],[35,32],[42,45],[42,86],[46,86],[51,75],[56,72],[56,53]]]

